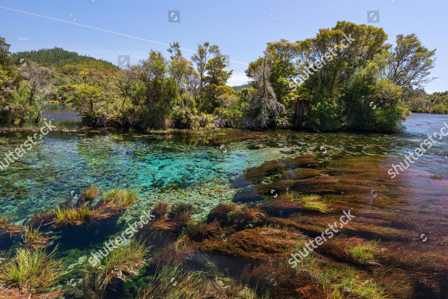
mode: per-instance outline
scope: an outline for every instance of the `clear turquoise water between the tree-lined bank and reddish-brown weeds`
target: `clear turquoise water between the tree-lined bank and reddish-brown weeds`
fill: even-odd
[[[231,199],[234,190],[229,180],[251,166],[312,152],[327,160],[380,155],[384,167],[388,167],[402,161],[407,151],[418,147],[427,134],[439,131],[444,122],[448,122],[446,115],[415,114],[409,117],[407,130],[400,134],[291,130],[219,131],[224,136],[218,131],[51,132],[1,171],[0,208],[13,215],[15,221],[22,221],[33,212],[72,199],[95,183],[102,189],[138,191],[141,200],[128,210],[129,214],[137,215],[143,207],[164,199],[194,202],[201,207],[201,216],[215,204]],[[0,134],[0,153],[19,147],[27,135]],[[437,141],[409,171],[448,173],[447,145],[448,136]]]

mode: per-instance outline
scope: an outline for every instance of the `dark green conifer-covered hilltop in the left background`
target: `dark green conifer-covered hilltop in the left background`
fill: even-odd
[[[16,64],[22,64],[20,60],[33,61],[42,66],[62,68],[63,73],[69,74],[82,69],[117,69],[108,61],[94,57],[79,55],[77,52],[66,51],[63,48],[40,49],[32,51],[16,52],[11,55]]]

